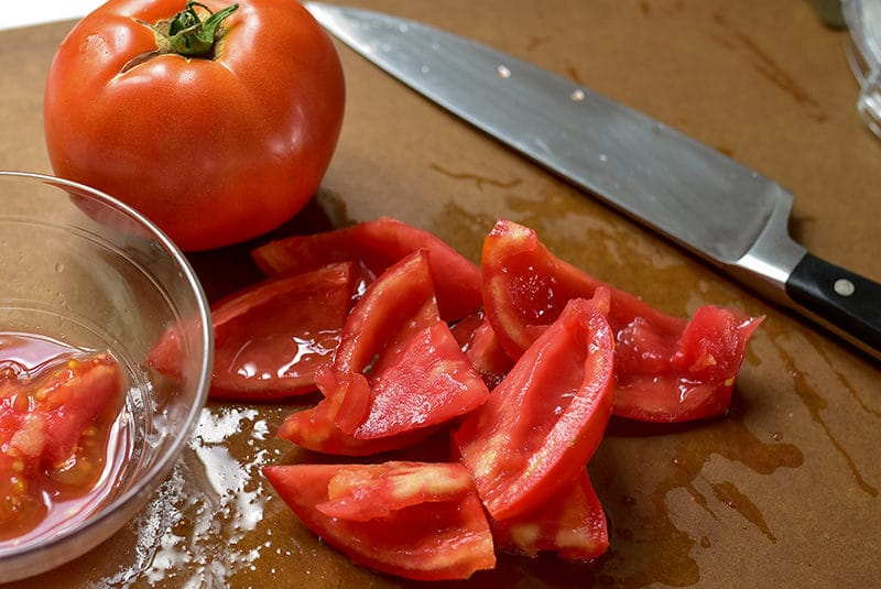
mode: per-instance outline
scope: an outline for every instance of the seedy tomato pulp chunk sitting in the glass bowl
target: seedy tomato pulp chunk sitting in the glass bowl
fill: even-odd
[[[105,463],[124,375],[108,355],[0,371],[0,538],[35,527],[50,505],[87,493]]]

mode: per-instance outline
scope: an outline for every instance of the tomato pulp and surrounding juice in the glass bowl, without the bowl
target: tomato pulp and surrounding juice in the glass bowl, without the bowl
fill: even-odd
[[[132,455],[132,379],[107,352],[0,332],[0,554],[84,521]]]

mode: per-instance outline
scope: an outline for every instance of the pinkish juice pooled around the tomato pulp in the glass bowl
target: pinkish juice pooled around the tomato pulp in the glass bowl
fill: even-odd
[[[70,359],[81,360],[91,356],[94,353],[90,350],[75,348],[42,336],[0,332],[0,385],[3,385],[4,379],[8,380],[7,383],[10,381],[26,383],[31,379],[39,380],[40,377],[59,366],[69,366],[67,361]],[[120,363],[119,366],[124,364]],[[124,380],[131,381],[129,375],[124,375]],[[122,394],[128,390],[127,386],[128,383],[123,381]],[[29,391],[29,394],[32,393]],[[33,394],[36,396],[39,393]],[[0,395],[0,402],[3,401],[2,396]],[[33,400],[31,403],[33,406]],[[0,416],[2,415],[3,413],[0,412]],[[0,520],[0,555],[6,550],[36,543],[41,538],[56,535],[76,525],[112,497],[116,483],[132,449],[132,432],[128,415],[129,411],[123,401],[121,411],[100,415],[97,421],[86,427],[91,427],[93,432],[97,432],[94,434],[91,444],[97,448],[94,465],[100,468],[100,473],[97,478],[94,475],[89,477],[89,479],[94,478],[93,484],[86,483],[85,488],[77,488],[74,484],[67,489],[56,487],[55,491],[50,491],[48,486],[44,482],[47,480],[46,475],[35,475],[33,471],[29,473],[28,479],[30,480],[26,480],[25,484],[42,486],[41,494],[46,510],[42,520],[24,532],[10,534],[9,530],[3,530],[3,526],[9,524]],[[6,427],[7,423],[0,423],[0,426]],[[107,433],[106,437],[101,435],[104,432]],[[11,440],[7,439],[8,437],[8,434],[3,435],[3,432],[0,430],[0,451],[6,452],[10,449]],[[85,436],[79,438],[77,444],[83,447],[86,444]],[[1,463],[0,467],[2,467]],[[43,470],[40,466],[36,468]],[[10,480],[9,473],[1,470],[0,490],[3,489],[3,479],[7,482]],[[34,477],[42,477],[42,480],[35,481]]]

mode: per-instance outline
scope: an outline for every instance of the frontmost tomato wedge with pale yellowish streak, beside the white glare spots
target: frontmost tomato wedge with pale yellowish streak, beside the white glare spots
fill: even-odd
[[[448,580],[467,579],[496,564],[480,500],[472,486],[458,490],[464,479],[457,468],[412,462],[291,465],[268,466],[263,473],[309,530],[356,564],[409,579]],[[359,493],[345,482],[357,479],[380,482]],[[396,487],[395,480],[406,484]],[[328,489],[340,492],[340,497],[350,501],[341,513],[354,512],[356,519],[330,516],[319,509],[333,511]],[[457,492],[426,495],[436,484]],[[384,491],[391,489],[389,508],[383,504],[389,499]],[[371,513],[377,516],[370,517]]]

